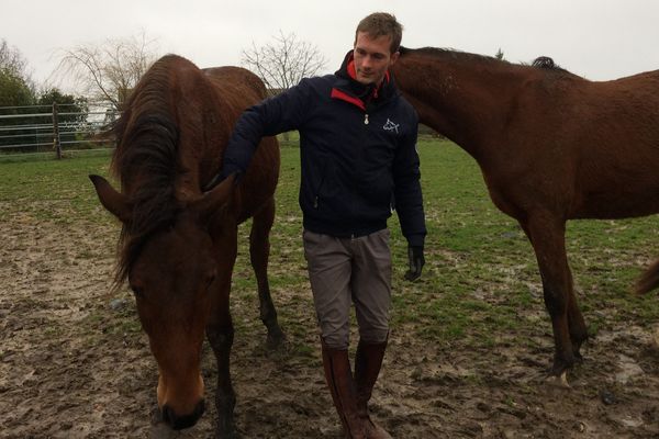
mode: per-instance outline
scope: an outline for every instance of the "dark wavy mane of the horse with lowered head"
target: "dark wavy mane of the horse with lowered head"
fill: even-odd
[[[171,226],[180,210],[175,196],[179,133],[167,94],[170,78],[166,66],[171,58],[154,64],[109,128],[116,138],[111,170],[133,209],[119,238],[115,288],[126,280],[145,241]]]

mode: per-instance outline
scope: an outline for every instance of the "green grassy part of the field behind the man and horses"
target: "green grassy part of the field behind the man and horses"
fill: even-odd
[[[315,316],[301,246],[299,150],[291,146],[295,142],[281,148],[270,281],[287,331],[298,341],[306,335],[315,342],[315,336],[309,335]],[[516,222],[492,204],[471,157],[449,142],[433,138],[422,139],[418,150],[428,228],[426,266],[418,282],[402,280],[406,243],[392,216],[393,330],[446,345],[488,348],[505,336],[534,347],[538,327],[545,336],[551,328],[529,243]],[[20,214],[71,228],[113,224],[87,179],[88,173],[107,176],[108,165],[108,155],[0,160],[0,221]],[[239,307],[234,313],[237,331],[263,330],[244,244],[247,235],[248,225],[243,225],[232,293],[232,306]],[[643,267],[659,257],[657,216],[570,222],[567,243],[579,302],[592,333],[625,322],[641,326],[659,322],[656,294],[629,294]],[[115,325],[118,331],[138,330],[125,322]],[[294,349],[303,353],[309,346],[300,342]]]

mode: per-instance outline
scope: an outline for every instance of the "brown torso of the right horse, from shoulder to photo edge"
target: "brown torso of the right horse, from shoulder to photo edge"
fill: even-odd
[[[487,140],[504,146],[481,160],[493,199],[527,205],[533,188],[567,218],[659,212],[659,71],[611,81],[535,75]]]

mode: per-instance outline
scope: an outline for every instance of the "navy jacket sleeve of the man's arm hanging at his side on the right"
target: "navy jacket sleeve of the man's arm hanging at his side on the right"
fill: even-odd
[[[395,210],[403,236],[410,246],[423,246],[426,235],[421,171],[416,139],[418,117],[413,112],[412,127],[403,137],[393,165]]]

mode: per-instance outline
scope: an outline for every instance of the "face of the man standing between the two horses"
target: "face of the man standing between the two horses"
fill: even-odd
[[[379,85],[399,57],[398,52],[392,54],[390,49],[391,36],[373,38],[366,32],[358,32],[354,53],[357,81],[365,86]]]

